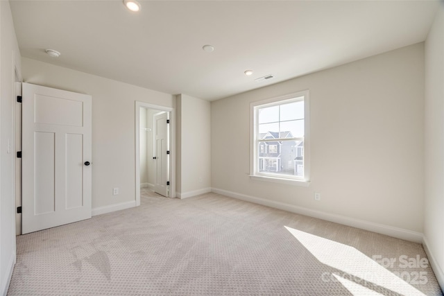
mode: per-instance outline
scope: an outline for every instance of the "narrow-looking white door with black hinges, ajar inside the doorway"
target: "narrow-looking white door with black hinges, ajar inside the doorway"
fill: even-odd
[[[169,197],[169,136],[168,112],[154,115],[155,184],[154,191]]]

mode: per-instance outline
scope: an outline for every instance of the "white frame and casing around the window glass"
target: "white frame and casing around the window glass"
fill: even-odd
[[[298,100],[298,98],[300,98]],[[273,105],[283,105],[291,101],[304,101],[304,176],[284,175],[278,173],[259,172],[259,140],[256,139],[259,128],[259,109]],[[293,184],[298,186],[309,186],[310,180],[310,101],[309,90],[286,94],[262,101],[250,103],[250,178],[257,181],[275,182],[281,184]]]

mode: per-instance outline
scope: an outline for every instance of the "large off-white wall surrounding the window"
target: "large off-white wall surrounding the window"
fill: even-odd
[[[305,89],[309,187],[250,180],[250,103]],[[214,101],[211,110],[214,191],[422,239],[423,43]]]

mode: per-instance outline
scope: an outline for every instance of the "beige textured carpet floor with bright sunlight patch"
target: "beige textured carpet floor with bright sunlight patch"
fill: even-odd
[[[215,193],[17,236],[8,295],[442,295],[422,245]]]

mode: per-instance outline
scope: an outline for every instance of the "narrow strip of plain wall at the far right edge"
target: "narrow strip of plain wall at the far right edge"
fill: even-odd
[[[444,3],[425,41],[424,245],[444,290]]]

